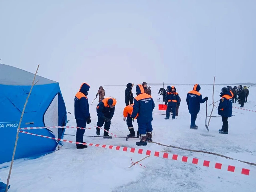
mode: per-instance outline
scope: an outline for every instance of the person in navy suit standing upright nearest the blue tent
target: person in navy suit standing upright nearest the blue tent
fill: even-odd
[[[85,128],[86,123],[91,123],[91,116],[89,111],[89,103],[87,99],[90,86],[87,83],[82,83],[79,91],[75,95],[75,119],[77,127]],[[77,129],[77,142],[83,142],[83,134],[85,129]],[[85,143],[85,142],[83,142]],[[77,149],[87,148],[87,145],[76,144]]]

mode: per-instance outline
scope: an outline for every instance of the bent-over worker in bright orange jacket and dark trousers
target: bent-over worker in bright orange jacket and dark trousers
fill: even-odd
[[[133,105],[134,104],[128,105],[123,109],[123,121],[126,120],[127,127],[130,131],[130,134],[127,135],[127,137],[135,137],[135,131],[133,129],[134,120],[131,118],[131,114],[133,113]],[[138,115],[134,119],[136,119],[137,117]],[[139,137],[138,133],[139,132],[137,131],[137,137]]]

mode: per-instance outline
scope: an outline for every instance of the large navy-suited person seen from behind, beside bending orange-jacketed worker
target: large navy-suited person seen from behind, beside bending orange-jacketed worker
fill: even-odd
[[[151,95],[144,92],[142,85],[136,86],[137,97],[134,98],[133,113],[131,118],[137,117],[138,130],[140,134],[140,141],[136,142],[136,145],[147,145],[147,141],[152,141],[152,124],[153,116],[152,112],[155,107],[155,103]]]

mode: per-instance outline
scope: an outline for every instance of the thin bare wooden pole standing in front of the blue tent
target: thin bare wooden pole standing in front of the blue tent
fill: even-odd
[[[11,159],[11,165],[10,165],[9,175],[8,175],[8,178],[7,178],[5,192],[7,192],[7,190],[8,190],[8,185],[9,185],[9,181],[10,181],[10,177],[11,177],[11,169],[13,167],[14,156],[15,156],[15,152],[16,152],[16,148],[17,148],[17,142],[18,142],[18,138],[19,138],[18,137],[19,136],[19,129],[21,128],[21,121],[22,121],[22,118],[23,118],[23,114],[24,114],[25,108],[27,106],[27,102],[29,100],[29,96],[31,94],[31,91],[32,91],[34,85],[38,82],[38,81],[35,82],[35,77],[37,75],[38,68],[39,68],[39,65],[37,65],[37,70],[35,71],[35,76],[34,76],[34,79],[33,79],[33,82],[32,82],[32,85],[31,85],[31,88],[30,88],[30,91],[29,91],[29,94],[27,95],[26,102],[25,102],[25,104],[23,106],[23,110],[22,110],[22,113],[21,113],[21,118],[19,119],[19,125],[18,125],[18,129],[17,129],[16,140],[15,140],[15,145],[14,145],[14,149],[13,149],[13,157]]]

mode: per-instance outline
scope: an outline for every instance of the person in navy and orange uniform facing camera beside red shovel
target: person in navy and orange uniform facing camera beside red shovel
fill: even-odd
[[[175,119],[176,107],[177,107],[177,104],[179,105],[179,102],[180,102],[179,94],[176,92],[176,88],[174,86],[168,86],[167,90],[170,90],[170,91],[167,92],[166,99],[165,99],[165,105],[167,105],[165,119],[170,118],[170,111],[173,111],[172,119]]]

